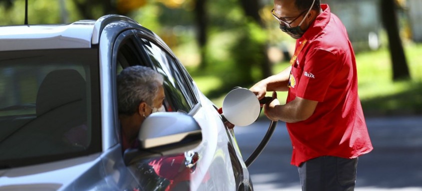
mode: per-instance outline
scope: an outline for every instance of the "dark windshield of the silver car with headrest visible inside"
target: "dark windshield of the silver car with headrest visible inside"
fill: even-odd
[[[101,149],[97,49],[0,52],[0,168]]]

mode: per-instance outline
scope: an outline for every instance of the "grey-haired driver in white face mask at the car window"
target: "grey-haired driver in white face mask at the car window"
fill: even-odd
[[[137,148],[138,132],[146,117],[165,112],[163,76],[145,66],[131,66],[117,76],[118,112],[123,150]]]

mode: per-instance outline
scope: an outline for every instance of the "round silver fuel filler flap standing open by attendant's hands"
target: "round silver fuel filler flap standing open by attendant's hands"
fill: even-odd
[[[260,110],[258,98],[246,88],[233,89],[223,100],[224,117],[236,126],[252,124],[258,119]]]

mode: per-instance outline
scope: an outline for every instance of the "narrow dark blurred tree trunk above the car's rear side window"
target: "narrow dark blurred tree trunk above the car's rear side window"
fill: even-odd
[[[196,0],[195,2],[195,18],[196,18],[196,25],[198,27],[197,39],[199,50],[201,53],[201,63],[199,65],[200,68],[207,67],[207,59],[206,59],[206,44],[207,44],[207,12],[206,12],[206,3],[207,0]]]

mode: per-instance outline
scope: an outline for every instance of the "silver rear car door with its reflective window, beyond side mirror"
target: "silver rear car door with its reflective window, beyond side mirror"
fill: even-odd
[[[195,164],[191,164],[193,168],[184,168],[185,172],[190,172],[184,175],[189,176],[185,179],[189,178],[190,189],[236,190],[230,141],[215,108],[208,99],[200,96],[192,81],[187,79],[184,67],[162,41],[143,34],[139,38],[151,66],[165,78],[167,111],[185,112],[193,116],[202,128],[203,141],[200,146],[185,153],[187,163],[191,162],[192,156],[198,158]]]

